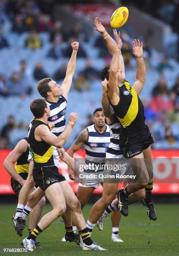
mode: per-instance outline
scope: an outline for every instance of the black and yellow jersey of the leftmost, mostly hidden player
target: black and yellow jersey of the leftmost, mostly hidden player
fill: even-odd
[[[28,142],[28,138],[25,137],[23,140]],[[24,173],[29,171],[29,162],[28,162],[28,156],[29,156],[29,148],[27,146],[26,151],[18,158],[18,160],[15,163],[15,170],[18,174]]]

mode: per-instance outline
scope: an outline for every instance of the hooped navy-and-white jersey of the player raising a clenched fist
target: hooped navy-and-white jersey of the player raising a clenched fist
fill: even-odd
[[[46,100],[46,102],[50,107],[50,117],[48,118],[48,123],[55,125],[51,132],[58,136],[65,130],[67,105],[66,98],[62,95],[59,97],[58,102],[50,102],[48,100]]]

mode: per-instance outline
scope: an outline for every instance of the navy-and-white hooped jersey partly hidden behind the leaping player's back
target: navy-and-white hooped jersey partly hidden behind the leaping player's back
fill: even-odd
[[[119,147],[119,134],[121,125],[117,118],[111,125],[108,125],[110,131],[110,144],[106,151],[106,158],[123,158],[122,151]]]

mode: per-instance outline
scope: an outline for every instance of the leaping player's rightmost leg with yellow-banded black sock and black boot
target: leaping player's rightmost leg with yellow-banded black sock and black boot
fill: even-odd
[[[152,201],[152,189],[153,189],[153,181],[154,181],[154,173],[153,173],[153,164],[152,164],[152,156],[151,156],[151,147],[149,146],[148,148],[143,150],[144,154],[144,161],[146,164],[146,168],[149,173],[149,183],[145,187],[146,189],[146,197],[143,200],[143,205],[147,208],[147,215],[151,220],[156,220],[157,215],[156,211],[153,205]]]

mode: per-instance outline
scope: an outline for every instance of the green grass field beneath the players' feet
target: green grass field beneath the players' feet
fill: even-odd
[[[92,238],[108,251],[83,251],[76,243],[61,242],[64,236],[64,225],[61,218],[46,229],[37,241],[43,249],[27,252],[33,255],[140,255],[140,256],[175,256],[179,255],[179,205],[155,205],[158,219],[149,221],[146,210],[141,204],[129,207],[129,216],[121,218],[119,235],[124,243],[111,242],[111,220],[104,223],[103,231],[94,228]],[[0,255],[27,255],[27,253],[3,253],[3,248],[22,248],[22,238],[16,235],[11,216],[15,211],[14,205],[0,205]],[[51,209],[46,205],[43,215]],[[88,218],[91,205],[87,205],[83,214]],[[27,221],[28,223],[28,221]],[[25,230],[23,238],[27,236]]]

